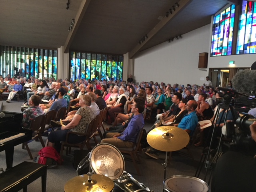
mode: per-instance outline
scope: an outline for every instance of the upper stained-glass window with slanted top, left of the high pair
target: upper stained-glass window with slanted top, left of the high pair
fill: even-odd
[[[231,55],[235,5],[214,16],[210,56]]]

